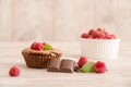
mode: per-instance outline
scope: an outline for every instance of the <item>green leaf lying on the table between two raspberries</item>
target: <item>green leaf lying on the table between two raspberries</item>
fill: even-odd
[[[94,62],[87,62],[80,70],[84,73],[92,73],[94,72]]]

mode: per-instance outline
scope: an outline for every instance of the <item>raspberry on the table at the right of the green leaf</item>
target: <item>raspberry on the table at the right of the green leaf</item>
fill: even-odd
[[[106,65],[104,62],[97,61],[94,65],[96,73],[104,73],[106,71]]]

